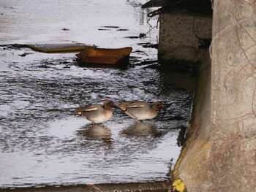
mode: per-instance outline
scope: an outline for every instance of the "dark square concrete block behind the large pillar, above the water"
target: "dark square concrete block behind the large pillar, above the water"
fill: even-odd
[[[200,39],[211,39],[211,17],[162,13],[159,21],[159,61],[200,61]]]

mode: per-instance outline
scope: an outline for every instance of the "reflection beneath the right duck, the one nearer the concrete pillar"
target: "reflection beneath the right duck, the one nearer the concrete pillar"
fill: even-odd
[[[144,123],[135,121],[128,128],[121,131],[122,135],[130,137],[160,137],[161,133],[157,131],[157,126],[153,123]]]

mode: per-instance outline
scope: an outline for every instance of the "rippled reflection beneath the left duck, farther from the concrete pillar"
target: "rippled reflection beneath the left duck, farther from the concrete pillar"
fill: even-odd
[[[83,128],[78,130],[78,134],[86,137],[88,140],[103,140],[105,142],[112,141],[110,129],[99,124],[83,126]]]

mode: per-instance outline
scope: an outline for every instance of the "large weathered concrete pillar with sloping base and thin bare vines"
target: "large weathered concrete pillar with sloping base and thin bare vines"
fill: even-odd
[[[173,176],[192,191],[255,191],[256,4],[215,0],[187,142]]]

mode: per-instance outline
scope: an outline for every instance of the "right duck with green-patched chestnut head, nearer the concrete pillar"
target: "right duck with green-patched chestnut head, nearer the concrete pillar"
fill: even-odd
[[[135,121],[153,119],[157,117],[157,111],[162,110],[164,105],[161,102],[154,101],[149,104],[147,101],[122,101],[117,106],[129,117]]]

